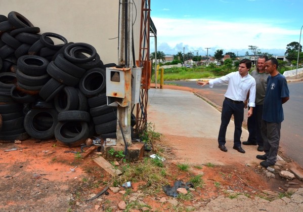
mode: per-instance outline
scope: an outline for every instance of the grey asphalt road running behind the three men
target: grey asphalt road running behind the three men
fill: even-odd
[[[227,84],[201,87],[196,81],[165,81],[165,84],[197,89],[197,93],[206,97],[217,105],[222,106]],[[290,99],[283,105],[284,121],[281,126],[280,150],[289,158],[303,167],[303,82],[288,83]],[[244,113],[244,121],[247,119]]]

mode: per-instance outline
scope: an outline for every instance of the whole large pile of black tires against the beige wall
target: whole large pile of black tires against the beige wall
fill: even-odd
[[[0,15],[0,142],[115,138],[116,108],[105,95],[105,68],[115,64],[103,64],[89,44],[39,32],[17,12]]]

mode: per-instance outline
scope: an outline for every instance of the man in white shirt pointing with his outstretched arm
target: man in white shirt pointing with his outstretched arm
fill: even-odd
[[[218,136],[219,149],[224,152],[227,152],[227,148],[225,147],[227,126],[232,115],[234,115],[235,133],[233,149],[240,153],[245,153],[244,149],[241,147],[240,138],[244,118],[244,101],[246,100],[248,91],[248,106],[250,108],[247,112],[247,117],[252,115],[252,109],[255,106],[255,79],[248,73],[250,68],[251,60],[243,59],[240,61],[238,68],[239,71],[235,71],[209,81],[197,82],[197,84],[202,87],[209,84],[209,88],[212,88],[214,84],[228,83],[227,91],[224,95],[225,100],[222,107],[221,125]]]

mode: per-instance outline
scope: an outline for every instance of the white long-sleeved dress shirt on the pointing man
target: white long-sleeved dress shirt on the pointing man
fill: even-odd
[[[209,80],[209,88],[214,84],[228,83],[225,97],[234,101],[245,101],[249,91],[249,107],[255,107],[255,79],[248,73],[242,77],[239,71],[229,73],[225,76]]]

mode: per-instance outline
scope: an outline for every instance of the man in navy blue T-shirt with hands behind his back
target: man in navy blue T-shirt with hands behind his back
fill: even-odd
[[[264,160],[263,167],[274,165],[280,143],[281,122],[284,120],[282,104],[289,100],[289,90],[285,76],[277,70],[278,61],[270,58],[265,62],[265,71],[270,74],[267,79],[267,89],[263,105],[262,137],[264,142],[264,155],[256,158]]]

